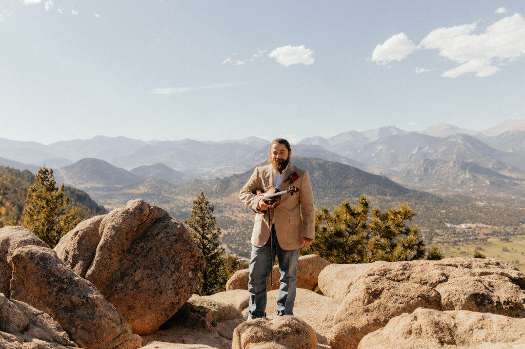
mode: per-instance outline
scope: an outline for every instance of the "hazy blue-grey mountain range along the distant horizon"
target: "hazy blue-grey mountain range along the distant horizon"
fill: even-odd
[[[212,142],[97,136],[51,145],[0,139],[0,165],[32,172],[53,167],[59,181],[81,189],[129,186],[146,178],[182,184],[243,173],[267,159],[268,145],[257,137]],[[483,131],[446,124],[422,132],[394,126],[351,130],[303,139],[292,146],[296,156],[382,174],[412,189],[518,197],[525,178],[525,120]],[[438,180],[444,178],[457,179],[457,185]]]

